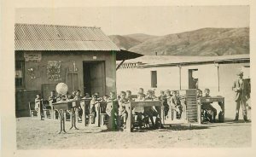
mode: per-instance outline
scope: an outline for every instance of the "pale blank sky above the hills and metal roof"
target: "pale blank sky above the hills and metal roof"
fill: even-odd
[[[166,35],[204,27],[248,27],[249,6],[19,8],[16,23],[101,27],[107,35]]]

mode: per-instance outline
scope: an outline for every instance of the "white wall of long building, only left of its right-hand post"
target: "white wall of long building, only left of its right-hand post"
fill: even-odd
[[[117,71],[117,90],[137,92],[140,87],[145,90],[152,89],[151,71],[157,71],[157,88],[155,88],[157,94],[160,93],[160,90],[180,90],[180,88],[181,90],[187,90],[189,89],[189,69],[198,69],[199,88],[218,90],[216,89],[218,87],[218,69],[212,64],[181,67],[181,78],[179,67],[119,69]]]

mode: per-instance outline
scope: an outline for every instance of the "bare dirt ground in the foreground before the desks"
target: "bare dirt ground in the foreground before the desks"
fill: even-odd
[[[229,121],[229,120],[227,120]],[[225,122],[206,125],[166,125],[165,129],[135,132],[104,131],[105,128],[84,126],[57,134],[59,120],[18,118],[18,149],[61,148],[244,148],[252,145],[251,123]]]

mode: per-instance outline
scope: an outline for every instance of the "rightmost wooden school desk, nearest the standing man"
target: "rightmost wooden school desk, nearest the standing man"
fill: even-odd
[[[211,97],[201,97],[199,98],[199,104],[198,104],[198,123],[201,124],[201,103],[212,103],[212,102],[220,102],[218,105],[222,109],[222,112],[224,113],[224,97],[223,96],[211,96]],[[224,121],[224,117],[223,117]]]

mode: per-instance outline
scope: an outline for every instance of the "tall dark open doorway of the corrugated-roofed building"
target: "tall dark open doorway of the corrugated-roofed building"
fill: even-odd
[[[105,62],[104,61],[84,61],[84,94],[89,93],[90,96],[99,92],[100,96],[106,94],[105,91]]]

